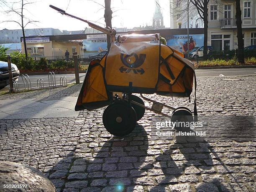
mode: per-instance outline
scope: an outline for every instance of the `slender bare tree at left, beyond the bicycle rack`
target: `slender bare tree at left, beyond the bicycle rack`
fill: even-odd
[[[26,2],[26,3],[25,3]],[[12,4],[11,7],[9,7],[10,9],[7,10],[5,13],[14,13],[18,16],[18,18],[20,19],[17,19],[17,20],[20,20],[20,21],[17,21],[17,20],[5,20],[3,22],[15,22],[17,23],[21,28],[22,28],[22,33],[23,33],[23,42],[24,42],[24,49],[25,49],[25,55],[26,55],[26,58],[28,58],[28,53],[27,53],[27,45],[26,45],[26,39],[25,39],[25,31],[24,31],[24,28],[29,24],[29,23],[35,23],[35,22],[38,22],[36,20],[30,20],[28,18],[26,18],[24,16],[24,10],[26,10],[26,8],[24,8],[25,5],[28,5],[28,4],[32,4],[33,2],[28,2],[26,0],[20,0],[19,2],[15,2]],[[3,23],[1,22],[1,23]],[[26,24],[24,24],[26,23]]]

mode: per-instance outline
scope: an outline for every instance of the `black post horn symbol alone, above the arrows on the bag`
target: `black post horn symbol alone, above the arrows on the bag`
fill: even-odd
[[[139,56],[137,54],[121,54],[121,61],[123,64],[128,68],[137,68],[140,67],[146,59],[146,54],[140,54]]]

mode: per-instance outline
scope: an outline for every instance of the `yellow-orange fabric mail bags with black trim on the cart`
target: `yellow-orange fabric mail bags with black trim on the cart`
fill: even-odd
[[[107,55],[91,61],[75,110],[108,105],[112,100],[110,92],[132,90],[133,93],[189,97],[195,73],[193,63],[159,41],[145,41],[156,36],[125,36],[128,42],[111,44]],[[138,42],[140,38],[144,41]]]

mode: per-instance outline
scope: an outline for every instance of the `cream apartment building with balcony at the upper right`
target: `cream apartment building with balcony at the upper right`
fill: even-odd
[[[235,0],[210,1],[208,45],[214,50],[238,48]],[[256,45],[256,0],[241,0],[244,47]]]

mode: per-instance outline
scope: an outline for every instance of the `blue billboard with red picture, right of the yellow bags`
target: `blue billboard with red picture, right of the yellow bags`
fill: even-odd
[[[187,35],[173,35],[167,37],[166,43],[168,46],[183,53],[186,53],[188,50]],[[189,35],[189,51],[200,46],[204,46],[204,34]]]

